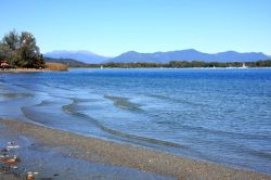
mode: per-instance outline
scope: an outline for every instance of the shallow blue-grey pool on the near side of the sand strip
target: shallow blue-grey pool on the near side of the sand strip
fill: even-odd
[[[119,179],[130,180],[138,177],[138,179],[145,180],[172,180],[173,178],[164,177],[146,171],[141,171],[133,168],[120,167],[114,165],[99,164],[90,160],[75,158],[70,153],[76,151],[72,147],[50,146],[28,139],[25,136],[8,131],[7,127],[0,125],[0,155],[8,154],[15,155],[20,162],[9,168],[8,171],[2,171],[2,162],[0,160],[0,179],[1,175],[10,175],[13,177],[25,179],[27,173],[34,173],[35,179]],[[7,145],[10,142],[15,143],[16,149],[10,149],[7,152]],[[9,165],[7,166],[9,167]],[[7,178],[8,179],[8,178]]]

